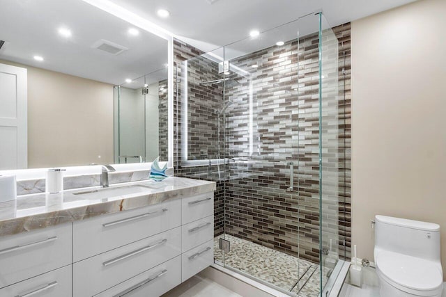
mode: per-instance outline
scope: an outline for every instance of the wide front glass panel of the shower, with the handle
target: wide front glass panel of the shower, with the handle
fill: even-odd
[[[224,266],[300,296],[319,293],[317,21],[224,47]]]

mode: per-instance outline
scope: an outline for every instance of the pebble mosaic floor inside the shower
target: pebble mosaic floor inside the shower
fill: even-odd
[[[214,239],[216,262],[224,263],[225,266],[291,291],[300,297],[319,295],[318,264],[228,234],[224,238],[231,242],[231,250],[223,254],[223,250],[218,248],[218,241],[222,237],[223,235],[220,235]],[[323,275],[329,272],[330,269],[323,268]],[[326,280],[324,277],[324,284]]]

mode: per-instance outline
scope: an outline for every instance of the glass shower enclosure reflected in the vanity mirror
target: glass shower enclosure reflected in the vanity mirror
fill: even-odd
[[[114,86],[114,163],[167,161],[167,68]]]

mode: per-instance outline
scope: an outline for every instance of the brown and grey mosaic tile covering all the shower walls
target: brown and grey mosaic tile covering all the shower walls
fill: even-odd
[[[339,40],[339,90],[342,90],[337,96],[339,114],[334,123],[339,131],[339,153],[336,157],[343,165],[337,172],[339,203],[327,204],[327,207],[337,208],[334,211],[337,211],[338,224],[329,227],[337,229],[333,234],[338,237],[339,254],[342,256],[346,251],[348,258],[351,246],[350,24],[337,26],[333,31]],[[176,40],[174,55],[179,74],[185,71],[181,62],[199,54],[203,53]],[[216,236],[223,231],[224,221],[228,234],[317,263],[319,185],[318,116],[315,114],[318,111],[318,35],[291,40],[279,49],[270,47],[230,61],[243,69],[254,63],[259,67],[249,68],[249,77],[231,74],[229,78],[235,83],[231,83],[231,88],[226,87],[224,101],[220,86],[212,89],[199,83],[201,79],[217,77],[217,63],[195,62],[192,68],[188,67],[189,77],[197,77],[195,82],[189,79],[188,97],[194,100],[188,102],[187,109],[191,115],[195,113],[195,120],[208,129],[195,129],[193,136],[187,136],[187,159],[211,159],[220,154],[222,148],[219,145],[223,141],[220,139],[219,145],[215,143],[216,138],[222,137],[220,129],[217,129],[220,117],[213,111],[222,109],[223,102],[233,102],[224,111],[225,157],[233,160],[224,167],[220,166],[220,172],[219,166],[215,165],[183,166],[180,157],[180,143],[184,141],[180,127],[183,120],[180,113],[182,90],[178,88],[174,91],[175,139],[178,143],[176,174],[217,182]],[[247,95],[249,83],[254,90],[252,98]],[[249,127],[253,131],[251,136],[247,135],[249,100],[254,102],[254,120]],[[252,137],[252,145],[247,141],[249,137]],[[291,161],[295,162],[294,187],[298,190],[295,192],[286,191]],[[224,179],[221,177],[223,171]]]

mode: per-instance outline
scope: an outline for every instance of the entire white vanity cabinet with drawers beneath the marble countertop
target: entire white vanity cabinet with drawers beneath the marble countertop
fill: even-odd
[[[213,196],[5,236],[0,296],[160,296],[213,264]]]

